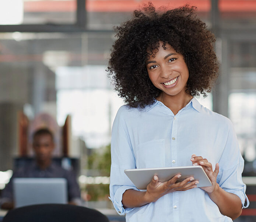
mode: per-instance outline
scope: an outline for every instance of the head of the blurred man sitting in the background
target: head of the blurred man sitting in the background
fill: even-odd
[[[38,162],[49,162],[52,159],[54,148],[53,134],[50,130],[43,128],[35,131],[33,135],[33,149]]]

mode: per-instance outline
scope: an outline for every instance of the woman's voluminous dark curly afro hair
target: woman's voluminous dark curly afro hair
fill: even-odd
[[[108,76],[130,107],[154,103],[161,90],[148,77],[146,60],[168,43],[183,55],[189,70],[187,94],[206,97],[218,77],[214,35],[196,17],[196,7],[157,11],[152,3],[135,10],[133,18],[115,28],[116,41],[109,60]],[[200,92],[200,94],[199,94]]]

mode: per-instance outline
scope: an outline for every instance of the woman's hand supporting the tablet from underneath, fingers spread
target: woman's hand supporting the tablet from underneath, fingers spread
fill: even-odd
[[[165,194],[172,193],[175,191],[190,190],[192,188],[197,187],[196,184],[199,183],[198,180],[193,181],[194,177],[188,177],[184,179],[182,182],[177,183],[177,180],[180,177],[181,175],[177,174],[174,177],[172,177],[172,179],[166,182],[159,182],[158,176],[155,175],[147,186],[145,199],[148,202],[155,202]]]

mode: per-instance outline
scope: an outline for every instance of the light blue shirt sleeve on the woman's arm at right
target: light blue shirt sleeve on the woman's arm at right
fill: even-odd
[[[248,207],[249,200],[245,194],[246,185],[242,181],[244,160],[231,121],[229,121],[227,142],[219,164],[220,172],[217,176],[217,183],[223,190],[236,194],[241,199],[243,208]]]

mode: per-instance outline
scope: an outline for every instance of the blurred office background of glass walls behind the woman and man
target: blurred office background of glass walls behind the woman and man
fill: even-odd
[[[21,115],[33,123],[40,114],[48,113],[60,127],[60,138],[69,115],[68,151],[56,156],[64,155],[79,162],[78,180],[85,205],[112,208],[107,198],[109,143],[113,119],[123,101],[113,91],[105,69],[115,41],[113,26],[130,18],[133,10],[147,2],[0,1],[1,189],[11,176],[14,159],[31,155],[22,153],[20,148]],[[245,158],[243,176],[251,200],[250,209],[244,210],[241,218],[253,221],[256,218],[256,202],[253,202],[256,201],[256,0],[152,0],[152,3],[167,8],[186,3],[196,6],[198,16],[217,37],[215,50],[221,64],[220,77],[208,97],[199,100],[229,117],[234,124]],[[29,147],[29,133],[27,140]],[[62,151],[63,140],[59,139],[58,144]],[[65,161],[64,165],[69,163],[69,159]]]

